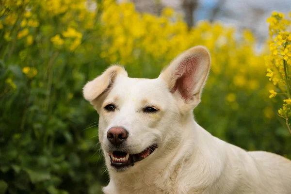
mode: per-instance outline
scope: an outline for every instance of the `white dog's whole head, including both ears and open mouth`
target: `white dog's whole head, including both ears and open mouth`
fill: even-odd
[[[107,166],[117,172],[134,170],[177,147],[183,121],[200,101],[209,67],[209,52],[194,47],[157,79],[129,78],[122,67],[111,66],[88,82],[83,95],[99,113]]]

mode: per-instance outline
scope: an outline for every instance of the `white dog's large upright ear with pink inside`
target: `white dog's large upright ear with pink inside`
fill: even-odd
[[[186,104],[194,108],[200,102],[202,88],[210,69],[209,51],[201,46],[193,47],[178,55],[162,71],[162,78],[173,94],[179,94]]]

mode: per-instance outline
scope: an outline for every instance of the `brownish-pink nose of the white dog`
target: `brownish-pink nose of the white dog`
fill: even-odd
[[[107,132],[107,139],[114,145],[119,146],[129,136],[127,130],[123,128],[111,128]]]

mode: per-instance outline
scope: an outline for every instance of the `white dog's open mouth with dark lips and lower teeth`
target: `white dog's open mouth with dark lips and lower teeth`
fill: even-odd
[[[113,153],[109,154],[111,165],[117,169],[127,166],[133,166],[135,162],[144,160],[146,157],[148,157],[151,153],[155,151],[157,147],[158,146],[156,145],[149,146],[144,151],[138,154],[129,154],[122,151],[113,151]]]

